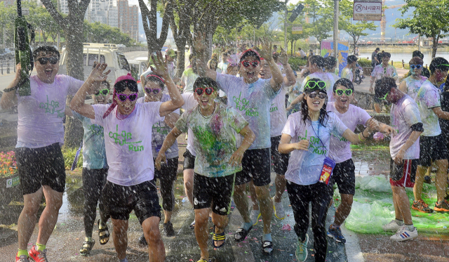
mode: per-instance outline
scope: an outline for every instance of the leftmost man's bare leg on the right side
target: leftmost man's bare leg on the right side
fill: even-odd
[[[46,207],[39,218],[39,235],[36,242],[47,244],[48,238],[55,229],[56,221],[58,221],[59,209],[62,206],[62,192],[55,191],[48,185],[43,185],[42,188]]]

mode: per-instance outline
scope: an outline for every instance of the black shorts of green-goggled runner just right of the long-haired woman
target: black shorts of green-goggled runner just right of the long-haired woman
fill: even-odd
[[[335,164],[330,178],[331,185],[337,183],[340,194],[355,195],[356,193],[356,166],[352,159]]]

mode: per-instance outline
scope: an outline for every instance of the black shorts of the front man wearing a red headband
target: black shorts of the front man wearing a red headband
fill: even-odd
[[[113,219],[128,220],[134,210],[140,225],[152,216],[161,218],[161,206],[154,181],[123,186],[107,181],[102,190],[100,209]]]

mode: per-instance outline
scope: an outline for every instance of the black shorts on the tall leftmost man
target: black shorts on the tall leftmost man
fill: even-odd
[[[59,143],[44,148],[17,148],[15,157],[23,195],[37,192],[42,185],[64,192],[65,165]]]

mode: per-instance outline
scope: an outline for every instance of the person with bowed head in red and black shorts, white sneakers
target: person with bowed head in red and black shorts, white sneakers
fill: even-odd
[[[420,110],[415,100],[398,89],[396,81],[391,77],[384,77],[376,82],[375,96],[391,103],[390,123],[397,132],[390,140],[390,184],[395,219],[382,228],[396,232],[390,237],[391,240],[413,240],[418,232],[413,225],[406,188],[413,188],[415,185],[420,158],[420,134],[424,131]],[[385,132],[382,129],[380,131]]]

